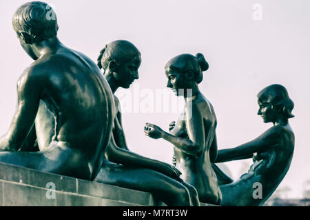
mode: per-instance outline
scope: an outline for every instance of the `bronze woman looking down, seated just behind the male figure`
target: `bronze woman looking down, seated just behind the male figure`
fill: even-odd
[[[113,93],[127,89],[138,79],[141,54],[128,41],[114,41],[105,46],[98,58],[99,67]],[[151,192],[168,206],[199,206],[195,188],[179,178],[180,171],[169,164],[143,157],[128,150],[121,122],[121,107],[114,96],[116,117],[106,159],[95,181],[134,190]]]

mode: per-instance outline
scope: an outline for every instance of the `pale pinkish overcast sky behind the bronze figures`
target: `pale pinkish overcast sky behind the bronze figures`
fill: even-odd
[[[32,60],[12,30],[12,14],[27,1],[0,1],[0,135],[8,131],[14,114],[16,83]],[[165,89],[164,67],[170,58],[201,52],[209,63],[200,90],[214,105],[218,118],[218,148],[254,139],[272,124],[257,115],[256,94],[273,83],[284,85],[295,103],[290,120],[296,135],[291,168],[281,187],[289,197],[301,197],[310,179],[310,1],[48,1],[56,6],[59,39],[96,61],[105,44],[126,39],[142,54],[140,79],[120,89],[140,103],[143,96]],[[262,6],[262,20],[253,19],[254,4]],[[135,90],[136,89],[136,90]],[[145,90],[152,89],[152,90]],[[138,96],[134,95],[138,91]],[[155,94],[155,92],[154,92]],[[155,95],[154,95],[155,96]],[[176,97],[173,97],[177,99]],[[121,102],[122,99],[120,98]],[[145,97],[144,97],[145,99]],[[182,101],[182,100],[180,100]],[[143,133],[145,122],[167,131],[178,113],[123,113],[127,144],[132,151],[172,162],[172,145]],[[234,179],[251,160],[226,163]]]

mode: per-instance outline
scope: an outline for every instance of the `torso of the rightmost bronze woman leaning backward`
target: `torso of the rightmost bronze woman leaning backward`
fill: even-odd
[[[223,192],[223,206],[261,206],[272,195],[291,164],[294,149],[294,135],[289,124],[273,126],[265,133],[278,134],[276,144],[267,151],[254,153],[254,164],[248,173],[231,184],[220,186]],[[254,184],[262,186],[262,199],[254,199]],[[238,199],[234,199],[238,197]]]

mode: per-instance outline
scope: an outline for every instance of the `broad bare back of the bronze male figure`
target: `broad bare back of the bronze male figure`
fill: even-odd
[[[34,65],[46,72],[35,122],[40,150],[61,143],[81,152],[91,170],[99,169],[114,117],[112,92],[99,68],[67,48]]]

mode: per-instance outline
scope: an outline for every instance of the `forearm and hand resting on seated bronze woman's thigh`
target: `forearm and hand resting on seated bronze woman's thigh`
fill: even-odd
[[[123,148],[116,146],[114,137],[111,137],[111,141],[107,149],[105,150],[105,156],[111,162],[117,164],[123,164],[126,166],[135,166],[138,168],[149,168],[161,172],[169,177],[176,178],[181,175],[180,171],[170,164],[160,162],[156,159],[150,159],[127,151]]]

